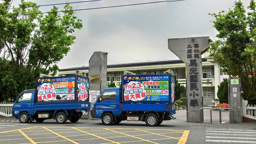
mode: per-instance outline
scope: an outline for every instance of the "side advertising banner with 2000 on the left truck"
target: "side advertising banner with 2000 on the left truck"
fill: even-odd
[[[75,76],[38,78],[36,86],[37,102],[75,100]]]

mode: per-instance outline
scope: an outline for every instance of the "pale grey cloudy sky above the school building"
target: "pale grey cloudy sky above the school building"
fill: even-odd
[[[26,0],[28,1],[28,0]],[[30,0],[40,5],[66,0]],[[68,2],[85,1],[70,0]],[[75,9],[99,8],[161,0],[102,0],[71,4]],[[163,0],[162,0],[163,1]],[[17,7],[20,0],[16,0]],[[242,0],[244,6],[249,0]],[[58,63],[60,68],[88,66],[94,51],[108,52],[108,64],[178,59],[168,49],[168,38],[210,36],[217,31],[208,13],[232,7],[234,0],[185,0],[79,11],[83,28],[75,31],[75,44]],[[57,5],[63,10],[64,5]],[[51,6],[41,7],[42,12]]]

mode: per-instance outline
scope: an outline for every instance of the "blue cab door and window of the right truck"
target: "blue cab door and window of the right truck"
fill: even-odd
[[[98,99],[98,105],[96,109],[104,111],[112,111],[112,113],[117,116],[119,111],[117,111],[116,106],[116,95],[117,90],[105,90]]]

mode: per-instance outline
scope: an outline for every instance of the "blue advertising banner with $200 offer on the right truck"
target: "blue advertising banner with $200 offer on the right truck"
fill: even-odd
[[[173,77],[168,74],[124,75],[122,76],[122,101],[124,103],[174,102]]]

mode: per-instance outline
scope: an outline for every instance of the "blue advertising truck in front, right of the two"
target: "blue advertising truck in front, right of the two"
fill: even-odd
[[[173,75],[123,75],[120,88],[106,88],[91,108],[104,125],[145,121],[156,126],[175,114]]]

